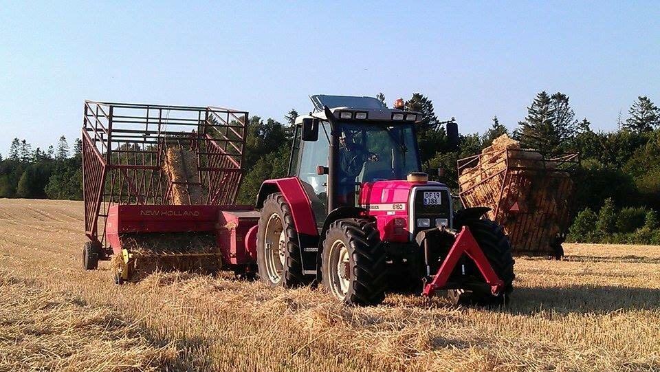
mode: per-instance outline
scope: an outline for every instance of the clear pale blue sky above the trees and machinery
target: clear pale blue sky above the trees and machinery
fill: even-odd
[[[283,121],[309,94],[419,91],[461,132],[514,128],[541,90],[613,129],[660,105],[660,3],[3,1],[0,153],[79,136],[83,100],[218,105]]]

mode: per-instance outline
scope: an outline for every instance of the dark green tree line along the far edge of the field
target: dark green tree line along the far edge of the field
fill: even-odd
[[[377,98],[385,102],[383,94]],[[632,213],[629,208],[660,210],[660,109],[647,96],[639,96],[626,118],[619,115],[617,129],[595,131],[588,118],[578,118],[570,103],[569,96],[562,92],[541,91],[531,100],[525,118],[507,123],[514,127],[513,131],[494,116],[492,122],[484,125],[487,129],[483,133],[462,133],[458,144],[450,143],[445,133],[444,124],[454,118],[439,117],[428,97],[412,94],[405,100],[405,108],[421,111],[424,116],[417,127],[423,167],[442,168],[443,180],[454,190],[458,187],[456,161],[480,153],[506,133],[524,148],[550,155],[580,153],[581,164],[574,177],[576,216],[591,216],[587,210],[596,214],[593,211],[602,210],[606,200],[625,216]],[[294,134],[292,124],[297,117],[298,112],[292,109],[285,116],[285,123],[259,116],[249,118],[243,164],[246,173],[239,203],[252,204],[263,179],[286,175]],[[74,141],[73,149],[61,137],[55,146],[45,150],[32,149],[26,140],[14,139],[8,158],[0,156],[0,197],[82,199],[81,164],[79,139]],[[639,215],[641,212],[635,221],[641,221]],[[587,220],[593,221],[592,217]],[[603,232],[600,237],[608,234],[615,232]]]

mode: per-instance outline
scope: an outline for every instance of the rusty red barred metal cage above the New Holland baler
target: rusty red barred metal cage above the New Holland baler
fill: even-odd
[[[113,204],[170,204],[173,182],[163,171],[169,144],[195,152],[197,184],[208,193],[190,204],[234,205],[243,178],[247,122],[247,111],[221,107],[86,100],[82,139],[87,237],[107,251],[105,228]]]

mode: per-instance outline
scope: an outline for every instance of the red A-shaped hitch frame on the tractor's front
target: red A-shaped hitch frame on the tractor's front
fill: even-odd
[[[497,276],[497,274],[495,274],[493,267],[490,265],[488,259],[481,251],[481,248],[479,247],[478,243],[476,243],[476,240],[474,240],[472,232],[470,232],[470,228],[463,226],[461,232],[458,234],[451,232],[450,230],[445,230],[445,232],[454,234],[456,240],[454,240],[454,245],[452,245],[452,248],[449,250],[449,254],[447,254],[445,261],[443,261],[437,274],[435,274],[433,277],[433,280],[427,285],[424,285],[422,294],[424,296],[430,297],[435,291],[437,291],[437,289],[444,287],[447,284],[450,274],[452,274],[452,271],[454,271],[456,263],[459,262],[459,259],[463,253],[465,253],[470,257],[470,259],[472,259],[472,261],[474,261],[474,263],[476,263],[476,267],[486,279],[487,285],[490,285],[492,294],[497,296],[500,293],[504,283]]]

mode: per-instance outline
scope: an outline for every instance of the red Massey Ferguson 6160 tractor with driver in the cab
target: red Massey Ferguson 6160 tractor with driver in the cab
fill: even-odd
[[[296,120],[290,177],[263,182],[256,206],[259,277],[316,280],[336,298],[375,305],[406,287],[456,302],[505,303],[514,259],[488,208],[454,212],[450,189],[421,173],[421,113],[370,97],[312,96]]]

